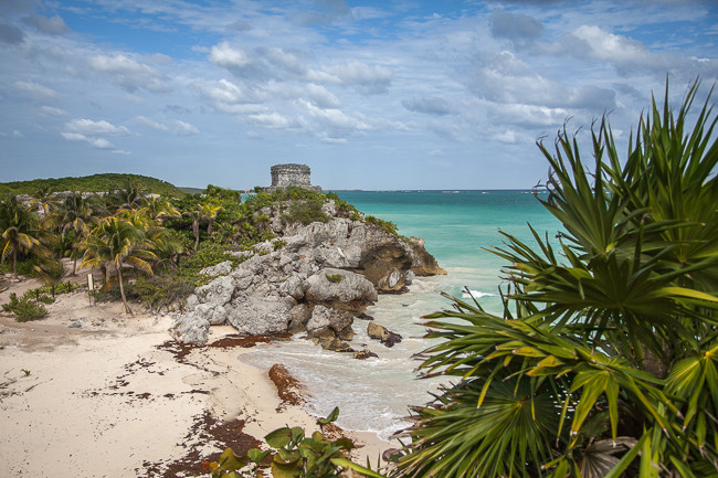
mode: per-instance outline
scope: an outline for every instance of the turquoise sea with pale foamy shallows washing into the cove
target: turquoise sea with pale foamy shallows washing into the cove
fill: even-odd
[[[471,300],[465,289],[493,312],[501,310],[498,287],[504,259],[484,251],[501,246],[504,231],[520,241],[534,244],[527,223],[555,237],[559,223],[531,191],[339,191],[339,196],[359,211],[391,221],[406,237],[425,240],[425,247],[446,272],[446,276],[420,277],[403,295],[380,295],[367,309],[376,323],[400,333],[403,339],[386,348],[367,334],[367,321],[355,320],[355,350],[367,348],[379,358],[355,360],[351,353],[323,350],[310,341],[257,347],[240,355],[243,363],[270,369],[283,363],[308,391],[306,410],[326,416],[339,406],[338,425],[355,431],[376,432],[389,439],[398,429],[409,426],[403,421],[408,405],[422,405],[431,400],[446,379],[419,380],[419,361],[412,357],[432,343],[422,317],[451,307],[441,297],[445,291]],[[543,198],[546,194],[543,193]],[[505,286],[505,284],[504,284]]]

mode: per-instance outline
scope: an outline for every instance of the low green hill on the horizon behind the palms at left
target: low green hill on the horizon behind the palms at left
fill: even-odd
[[[166,198],[183,198],[184,192],[179,188],[156,178],[140,174],[120,174],[105,172],[102,174],[84,176],[81,178],[50,178],[32,181],[14,181],[0,183],[0,193],[30,194],[39,187],[52,187],[55,191],[103,192],[122,188],[130,178],[138,179],[145,189]]]

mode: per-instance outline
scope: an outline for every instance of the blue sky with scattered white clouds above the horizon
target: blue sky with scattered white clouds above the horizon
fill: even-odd
[[[718,2],[0,0],[0,181],[528,189],[718,79]]]

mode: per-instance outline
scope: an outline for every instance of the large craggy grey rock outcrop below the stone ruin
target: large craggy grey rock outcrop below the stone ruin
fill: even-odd
[[[205,343],[211,325],[229,323],[252,336],[307,330],[326,349],[352,351],[346,341],[353,318],[368,318],[378,291],[401,293],[414,276],[446,274],[423,240],[340,217],[334,201],[324,208],[330,221],[308,225],[285,224],[286,206],[261,210],[281,237],[231,253],[244,261],[234,269],[228,261],[202,270],[215,278],[187,299],[170,329],[176,340]],[[387,340],[401,340],[394,336]]]

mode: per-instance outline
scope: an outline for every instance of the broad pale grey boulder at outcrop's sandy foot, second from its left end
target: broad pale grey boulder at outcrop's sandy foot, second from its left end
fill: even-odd
[[[229,322],[249,336],[286,332],[292,320],[289,310],[296,305],[278,296],[245,296],[232,300],[228,311]],[[294,300],[294,299],[292,299]]]

